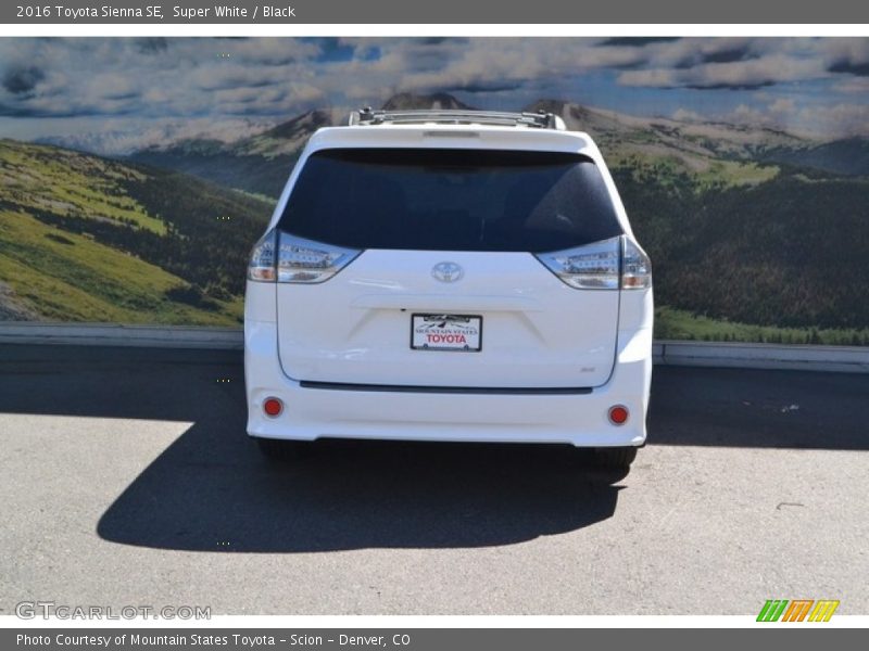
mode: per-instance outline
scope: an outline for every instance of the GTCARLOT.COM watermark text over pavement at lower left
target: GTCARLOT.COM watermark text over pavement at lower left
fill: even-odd
[[[21,620],[211,620],[210,605],[71,605],[54,601],[21,601]]]

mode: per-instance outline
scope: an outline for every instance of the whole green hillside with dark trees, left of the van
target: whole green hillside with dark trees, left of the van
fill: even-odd
[[[0,319],[238,326],[269,212],[176,173],[0,141]]]

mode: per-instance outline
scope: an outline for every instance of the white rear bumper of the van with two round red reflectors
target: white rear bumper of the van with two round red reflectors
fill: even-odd
[[[274,322],[245,322],[244,344],[251,436],[566,443],[579,447],[639,446],[646,437],[651,329],[619,332],[618,358],[609,381],[590,393],[574,395],[308,388],[282,372]],[[263,401],[269,396],[284,401],[277,418],[263,412]],[[614,405],[630,410],[624,425],[608,421]]]

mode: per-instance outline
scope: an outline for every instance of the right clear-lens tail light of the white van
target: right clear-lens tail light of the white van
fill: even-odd
[[[537,258],[578,290],[640,290],[652,286],[652,265],[637,244],[620,235]]]

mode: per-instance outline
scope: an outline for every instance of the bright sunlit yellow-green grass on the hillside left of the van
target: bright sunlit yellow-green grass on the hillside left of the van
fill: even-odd
[[[46,321],[239,326],[241,296],[178,299],[190,286],[186,280],[33,216],[86,217],[163,234],[165,222],[124,190],[144,178],[122,163],[0,140],[0,286],[8,307]]]

